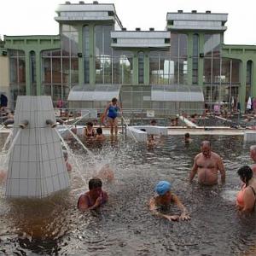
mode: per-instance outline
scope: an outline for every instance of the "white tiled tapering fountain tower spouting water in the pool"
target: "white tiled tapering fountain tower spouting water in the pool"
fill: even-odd
[[[43,198],[69,187],[50,96],[18,96],[5,194]]]

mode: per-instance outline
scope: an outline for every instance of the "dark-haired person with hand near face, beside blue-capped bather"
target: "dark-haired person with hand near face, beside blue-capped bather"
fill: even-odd
[[[78,208],[84,212],[93,210],[108,201],[108,193],[102,190],[102,180],[94,177],[89,181],[89,191],[79,196]]]

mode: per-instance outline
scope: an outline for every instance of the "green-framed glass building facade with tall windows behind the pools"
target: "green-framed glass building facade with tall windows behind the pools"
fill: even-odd
[[[154,38],[152,30],[148,31],[148,39],[143,39],[143,44],[139,36],[135,39],[122,37],[125,29],[122,30],[113,4],[89,5],[87,8],[84,4],[83,12],[78,12],[73,11],[74,4],[69,4],[71,11],[65,15],[71,18],[67,20],[63,20],[61,9],[57,10],[55,20],[60,23],[60,35],[54,40],[49,36],[47,44],[44,38],[39,38],[42,42],[39,49],[32,47],[31,38],[25,37],[19,49],[15,49],[18,38],[5,38],[9,49],[9,90],[14,105],[19,95],[47,95],[52,97],[54,104],[61,99],[67,106],[73,86],[82,88],[86,84],[126,86],[122,90],[125,92],[123,102],[127,101],[126,96],[129,97],[128,88],[147,92],[153,85],[200,86],[209,108],[232,99],[246,101],[256,93],[253,89],[256,85],[254,60],[238,58],[236,52],[240,49],[224,46],[225,18],[221,18],[217,29],[209,28],[213,25],[202,29],[197,14],[189,14],[195,28],[182,29],[179,13],[172,13],[167,20],[168,37],[162,38],[164,46],[160,46],[155,43],[159,38]],[[98,16],[92,15],[92,8],[101,10]],[[208,20],[213,17],[209,13],[204,15],[208,15]],[[117,31],[119,38],[113,38],[112,32]],[[141,35],[140,31],[134,33]],[[153,46],[149,45],[151,41]],[[141,100],[138,101],[132,100],[139,107]]]

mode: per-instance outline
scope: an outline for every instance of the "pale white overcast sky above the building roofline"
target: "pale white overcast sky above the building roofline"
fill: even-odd
[[[92,3],[85,1],[85,3]],[[71,3],[79,3],[79,0]],[[99,3],[114,3],[123,26],[128,30],[141,27],[148,30],[164,30],[166,13],[178,9],[190,12],[211,10],[228,13],[225,44],[256,44],[256,1],[243,0],[99,0]],[[55,35],[58,23],[54,20],[55,9],[60,0],[1,0],[0,35]]]

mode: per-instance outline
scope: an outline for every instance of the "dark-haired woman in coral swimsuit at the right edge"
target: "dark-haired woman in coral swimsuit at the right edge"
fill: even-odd
[[[236,196],[236,207],[241,212],[252,212],[256,199],[256,179],[253,177],[253,171],[249,166],[242,166],[237,174],[244,184]]]

